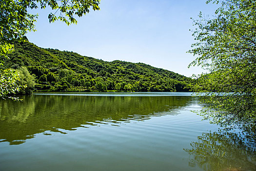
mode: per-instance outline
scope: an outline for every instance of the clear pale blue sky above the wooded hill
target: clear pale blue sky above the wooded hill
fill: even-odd
[[[213,15],[216,5],[206,0],[101,0],[78,24],[49,23],[46,10],[38,13],[36,32],[26,36],[39,47],[77,52],[104,61],[145,63],[185,76],[199,74],[187,66],[195,59],[186,53],[194,42],[191,17]]]

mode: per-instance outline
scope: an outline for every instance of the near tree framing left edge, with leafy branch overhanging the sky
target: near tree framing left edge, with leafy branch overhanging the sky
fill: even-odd
[[[89,13],[90,7],[99,10],[99,2],[100,0],[0,0],[0,64],[3,65],[4,58],[8,58],[8,54],[14,51],[14,40],[25,41],[24,35],[28,31],[35,31],[37,15],[29,14],[29,8],[44,9],[49,6],[55,11],[48,16],[50,22],[60,20],[69,25],[77,23],[74,16],[81,17]],[[8,78],[12,78],[7,79],[6,74]],[[12,86],[1,86],[7,89],[0,90],[0,97],[7,96],[7,92],[15,92],[8,88],[20,89],[15,82],[18,76],[11,70],[1,70],[0,78],[3,83],[12,82]]]

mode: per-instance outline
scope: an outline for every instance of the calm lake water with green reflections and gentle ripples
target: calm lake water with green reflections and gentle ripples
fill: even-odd
[[[255,171],[256,152],[191,112],[190,93],[0,100],[0,171]]]

